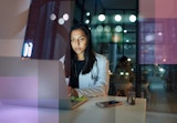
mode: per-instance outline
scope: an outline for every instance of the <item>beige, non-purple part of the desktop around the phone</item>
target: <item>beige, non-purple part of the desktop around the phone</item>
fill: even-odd
[[[95,103],[117,100],[123,105],[98,107]],[[69,119],[70,117],[70,119]],[[146,100],[136,99],[135,105],[126,103],[126,98],[92,98],[84,105],[73,111],[60,111],[60,123],[145,123]]]

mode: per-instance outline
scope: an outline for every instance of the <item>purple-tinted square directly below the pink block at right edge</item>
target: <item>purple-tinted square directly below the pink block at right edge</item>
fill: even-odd
[[[144,27],[147,23],[150,28],[146,29]],[[143,30],[139,32],[139,62],[142,64],[176,64],[177,19],[146,19],[140,27]],[[150,42],[146,41],[146,35],[150,34],[155,38]]]

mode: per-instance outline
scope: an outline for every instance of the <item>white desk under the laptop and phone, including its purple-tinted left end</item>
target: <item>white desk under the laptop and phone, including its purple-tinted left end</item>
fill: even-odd
[[[124,104],[114,107],[97,107],[96,102],[118,100]],[[126,98],[93,98],[80,107],[66,111],[0,104],[0,123],[145,123],[146,100],[136,99],[128,105]]]

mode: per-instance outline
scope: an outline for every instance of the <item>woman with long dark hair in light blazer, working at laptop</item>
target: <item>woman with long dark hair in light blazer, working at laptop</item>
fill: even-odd
[[[108,61],[93,52],[91,30],[85,24],[71,29],[71,96],[103,96],[108,92]]]

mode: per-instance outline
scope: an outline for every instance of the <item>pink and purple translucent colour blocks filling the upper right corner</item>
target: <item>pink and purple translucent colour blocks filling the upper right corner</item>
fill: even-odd
[[[140,64],[177,64],[176,10],[176,0],[139,0]]]

